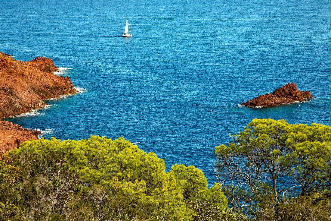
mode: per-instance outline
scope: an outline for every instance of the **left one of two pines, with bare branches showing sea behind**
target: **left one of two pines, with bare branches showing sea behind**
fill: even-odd
[[[285,120],[254,119],[228,147],[216,147],[216,168],[228,180],[223,190],[238,213],[252,204],[277,201],[288,125]]]

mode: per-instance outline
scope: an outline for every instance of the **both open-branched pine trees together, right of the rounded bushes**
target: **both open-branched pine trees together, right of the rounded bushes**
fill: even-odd
[[[268,220],[289,193],[330,190],[331,127],[254,119],[232,138],[214,154],[223,191],[238,213],[260,212]],[[286,188],[280,187],[284,180]],[[296,186],[301,191],[293,193]]]

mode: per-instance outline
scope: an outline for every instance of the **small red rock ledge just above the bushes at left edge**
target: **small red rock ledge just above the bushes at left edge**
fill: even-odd
[[[0,159],[3,153],[18,148],[19,145],[31,139],[38,139],[38,130],[28,130],[20,125],[0,120]]]

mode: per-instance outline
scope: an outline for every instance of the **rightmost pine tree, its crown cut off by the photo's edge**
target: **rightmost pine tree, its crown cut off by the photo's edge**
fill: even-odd
[[[286,144],[285,170],[300,184],[301,195],[330,189],[331,127],[290,125]]]

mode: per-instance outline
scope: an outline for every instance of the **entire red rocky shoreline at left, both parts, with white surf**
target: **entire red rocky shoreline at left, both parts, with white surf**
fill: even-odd
[[[46,103],[47,100],[63,99],[86,91],[75,87],[68,76],[55,74],[69,69],[56,67],[50,58],[36,57],[31,61],[19,61],[0,52],[1,153],[18,148],[25,141],[39,139],[41,131],[49,131],[26,129],[7,119],[39,115],[42,109],[53,107]]]

